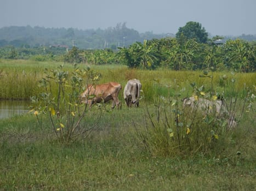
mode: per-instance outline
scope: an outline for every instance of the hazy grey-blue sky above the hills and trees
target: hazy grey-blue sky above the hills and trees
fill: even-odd
[[[212,35],[256,34],[256,0],[0,1],[0,27],[106,29],[126,22],[139,32],[175,34],[189,21]]]

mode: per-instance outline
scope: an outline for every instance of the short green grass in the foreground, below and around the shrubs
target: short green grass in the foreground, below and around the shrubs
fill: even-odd
[[[88,139],[54,140],[30,114],[0,121],[0,188],[3,190],[253,190],[255,136],[248,134],[224,156],[152,156],[130,123],[143,106],[107,112]],[[139,114],[139,115],[138,115]],[[123,117],[131,115],[130,117]],[[88,116],[89,120],[92,116]],[[89,121],[88,123],[93,123]],[[29,124],[29,126],[27,125]],[[251,123],[250,123],[251,124]],[[251,129],[252,130],[252,129]],[[241,132],[239,132],[241,131]],[[236,136],[244,133],[238,128]],[[234,135],[235,136],[235,135]],[[252,137],[251,137],[252,136]],[[244,139],[245,138],[245,139]],[[248,148],[251,147],[251,148]],[[239,150],[238,150],[239,149]],[[241,151],[241,156],[236,152]]]

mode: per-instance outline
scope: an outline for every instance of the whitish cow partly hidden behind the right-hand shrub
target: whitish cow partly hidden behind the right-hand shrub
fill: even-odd
[[[228,128],[235,128],[237,123],[234,119],[234,115],[231,115],[227,110],[227,106],[223,99],[221,100],[209,100],[204,98],[190,97],[183,100],[184,111],[190,113],[199,111],[203,115],[214,114],[216,117],[222,117],[227,119]]]

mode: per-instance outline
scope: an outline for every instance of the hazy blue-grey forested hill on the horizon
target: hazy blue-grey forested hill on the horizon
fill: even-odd
[[[128,46],[144,39],[174,37],[174,34],[139,33],[119,23],[107,29],[44,28],[12,26],[0,28],[0,47],[77,46],[80,49],[104,49]]]

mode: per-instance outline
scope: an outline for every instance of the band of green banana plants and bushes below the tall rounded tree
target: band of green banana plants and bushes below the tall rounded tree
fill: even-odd
[[[90,64],[126,64],[128,68],[172,70],[256,70],[256,43],[236,39],[225,44],[198,43],[189,39],[180,43],[177,38],[162,38],[136,42],[119,51],[78,50],[76,47],[64,55],[64,62]]]

